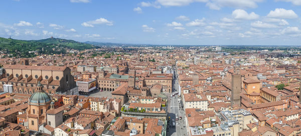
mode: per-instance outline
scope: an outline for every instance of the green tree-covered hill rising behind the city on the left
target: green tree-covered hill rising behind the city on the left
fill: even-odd
[[[95,46],[88,43],[53,37],[40,40],[19,40],[0,37],[0,50],[16,57],[35,56],[34,53],[29,53],[29,51],[38,51],[41,54],[65,53],[66,48],[83,50],[95,48]]]

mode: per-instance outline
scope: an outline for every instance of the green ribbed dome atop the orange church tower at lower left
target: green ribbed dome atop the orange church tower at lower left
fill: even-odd
[[[30,104],[45,104],[51,101],[51,97],[44,91],[36,91],[31,95],[29,102]]]

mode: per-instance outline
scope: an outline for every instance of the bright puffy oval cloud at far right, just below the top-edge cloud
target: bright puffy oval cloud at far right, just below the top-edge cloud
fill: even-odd
[[[267,17],[272,18],[296,18],[298,15],[293,10],[286,10],[284,8],[276,8],[275,10],[271,10]]]

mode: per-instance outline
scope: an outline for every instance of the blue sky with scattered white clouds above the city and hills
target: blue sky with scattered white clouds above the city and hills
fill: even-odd
[[[301,0],[2,0],[0,37],[301,45]]]

